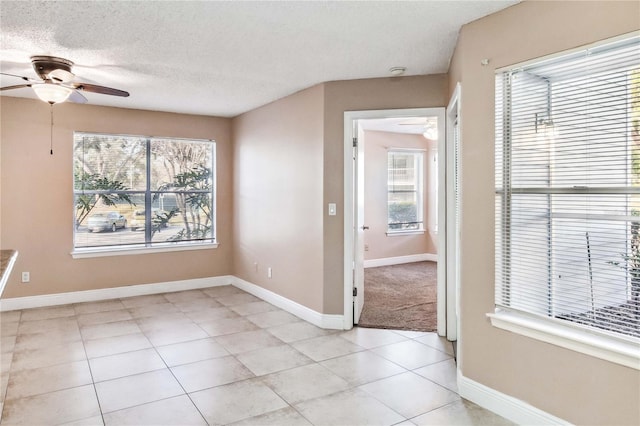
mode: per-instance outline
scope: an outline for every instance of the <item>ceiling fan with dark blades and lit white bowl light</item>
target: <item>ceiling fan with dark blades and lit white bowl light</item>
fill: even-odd
[[[2,75],[17,77],[28,82],[15,86],[1,87],[0,91],[31,87],[38,98],[51,105],[67,100],[78,104],[87,103],[87,98],[80,92],[122,97],[129,96],[129,92],[125,92],[124,90],[112,89],[111,87],[98,86],[96,84],[74,82],[75,74],[71,72],[73,62],[68,59],[57,58],[55,56],[32,56],[31,65],[40,77],[40,80],[0,72]]]

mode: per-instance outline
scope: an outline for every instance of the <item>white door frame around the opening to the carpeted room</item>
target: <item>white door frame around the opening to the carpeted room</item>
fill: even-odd
[[[353,271],[355,267],[354,232],[356,226],[363,224],[355,223],[355,191],[357,184],[354,178],[353,159],[353,138],[354,125],[362,119],[382,119],[394,117],[438,117],[440,128],[438,129],[438,289],[437,289],[437,312],[438,312],[438,334],[446,335],[447,321],[447,282],[446,282],[446,120],[445,108],[406,108],[406,109],[385,109],[385,110],[363,110],[344,112],[344,315],[343,321],[345,330],[353,328]],[[445,154],[445,155],[443,155]]]

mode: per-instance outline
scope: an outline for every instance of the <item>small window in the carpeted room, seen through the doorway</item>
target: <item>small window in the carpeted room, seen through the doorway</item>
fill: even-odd
[[[390,150],[387,153],[388,230],[423,231],[424,152]]]

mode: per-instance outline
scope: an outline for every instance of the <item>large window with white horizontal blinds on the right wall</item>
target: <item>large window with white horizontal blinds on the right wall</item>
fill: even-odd
[[[639,216],[639,39],[499,72],[497,311],[637,348]]]

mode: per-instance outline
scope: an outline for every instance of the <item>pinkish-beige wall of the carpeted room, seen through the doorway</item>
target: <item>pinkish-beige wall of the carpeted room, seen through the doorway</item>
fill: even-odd
[[[369,230],[364,233],[364,259],[436,253],[435,238],[429,232],[430,204],[429,161],[430,143],[422,135],[389,133],[367,130],[364,132],[364,220]],[[424,227],[423,234],[387,236],[387,152],[388,148],[423,149],[424,152]],[[368,249],[368,250],[367,250]]]

